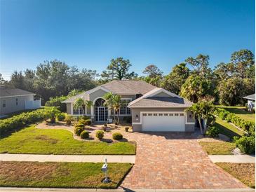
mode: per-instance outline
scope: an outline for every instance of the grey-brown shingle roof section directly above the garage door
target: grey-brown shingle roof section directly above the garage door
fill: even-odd
[[[129,107],[190,107],[191,104],[193,103],[178,97],[147,97]]]

